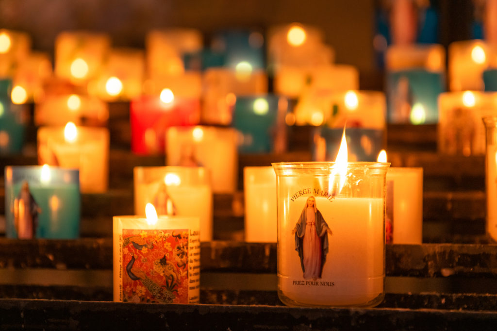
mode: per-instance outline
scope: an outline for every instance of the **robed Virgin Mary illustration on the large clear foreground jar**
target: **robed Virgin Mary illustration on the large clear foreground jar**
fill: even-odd
[[[328,254],[328,234],[333,232],[318,210],[314,196],[307,199],[292,234],[295,234],[295,250],[299,253],[304,279],[321,278]]]

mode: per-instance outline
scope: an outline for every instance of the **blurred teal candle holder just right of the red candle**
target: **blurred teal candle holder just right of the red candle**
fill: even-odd
[[[276,95],[238,96],[233,126],[243,134],[240,153],[286,150],[288,101]]]

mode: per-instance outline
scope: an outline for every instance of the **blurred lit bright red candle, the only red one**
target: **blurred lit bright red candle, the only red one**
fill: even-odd
[[[131,150],[136,154],[164,154],[166,130],[200,121],[198,98],[176,97],[165,88],[160,96],[143,95],[131,101]]]

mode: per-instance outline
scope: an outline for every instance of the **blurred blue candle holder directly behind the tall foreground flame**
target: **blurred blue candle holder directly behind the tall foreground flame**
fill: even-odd
[[[334,161],[338,154],[343,128],[317,127],[314,132],[313,160]],[[345,129],[348,161],[376,162],[383,149],[385,130],[370,128]]]

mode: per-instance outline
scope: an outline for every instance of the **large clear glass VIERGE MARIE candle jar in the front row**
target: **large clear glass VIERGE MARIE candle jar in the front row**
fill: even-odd
[[[275,163],[278,296],[289,306],[384,297],[388,163]],[[343,169],[342,169],[343,170]]]

